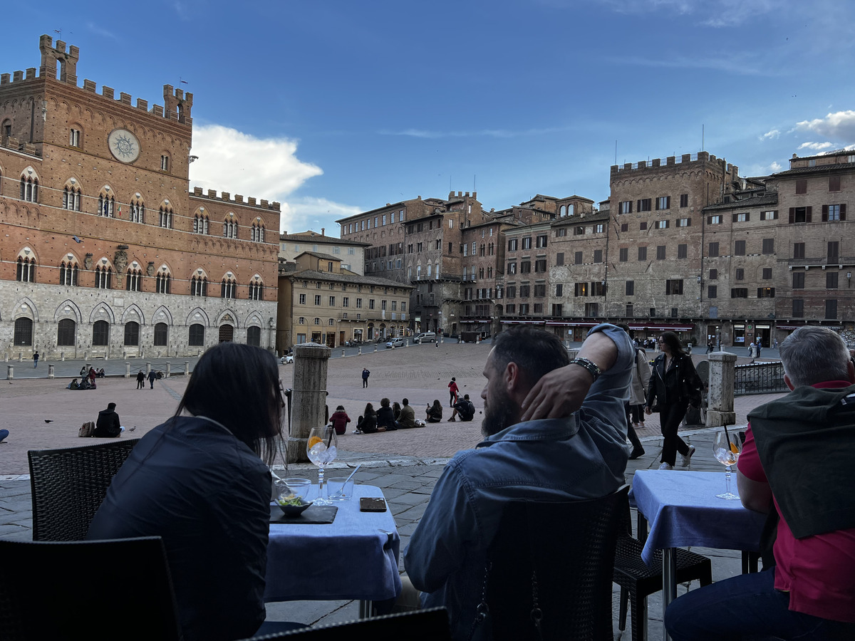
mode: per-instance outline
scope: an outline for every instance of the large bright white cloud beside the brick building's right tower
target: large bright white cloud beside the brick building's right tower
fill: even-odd
[[[284,203],[300,185],[321,168],[297,157],[297,142],[288,138],[256,138],[227,126],[193,127],[190,184]],[[281,226],[286,226],[286,205]]]

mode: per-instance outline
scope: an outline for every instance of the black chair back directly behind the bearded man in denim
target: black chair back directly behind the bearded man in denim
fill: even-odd
[[[489,550],[488,614],[475,623],[473,636],[611,641],[618,506],[627,492],[624,487],[587,501],[510,502]],[[478,633],[480,625],[488,628]]]

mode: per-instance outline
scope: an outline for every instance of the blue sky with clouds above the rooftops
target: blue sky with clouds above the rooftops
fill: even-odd
[[[27,6],[0,71],[62,30],[84,78],[194,94],[192,185],[282,229],[405,198],[609,196],[609,168],[703,149],[745,176],[855,144],[844,0],[149,0]]]

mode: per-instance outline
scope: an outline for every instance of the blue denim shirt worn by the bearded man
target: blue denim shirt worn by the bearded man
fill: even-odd
[[[404,553],[426,608],[445,606],[451,637],[469,637],[481,600],[486,550],[504,504],[517,498],[602,497],[624,483],[627,420],[623,408],[634,350],[626,332],[599,325],[615,342],[615,364],[591,386],[581,409],[562,419],[528,420],[458,452],[433,488]],[[484,628],[484,626],[480,626]],[[473,638],[484,638],[486,629]]]

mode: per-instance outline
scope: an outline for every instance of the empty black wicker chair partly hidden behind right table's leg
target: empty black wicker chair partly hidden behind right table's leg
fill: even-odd
[[[647,638],[647,597],[662,590],[662,552],[657,551],[651,565],[641,560],[641,549],[646,539],[646,521],[639,513],[639,536],[633,538],[632,515],[629,501],[620,508],[622,515],[621,536],[615,551],[615,573],[613,580],[621,586],[621,607],[618,613],[618,629],[627,627],[627,606],[632,608],[633,641]],[[712,564],[709,558],[688,550],[676,550],[677,583],[688,583],[698,579],[700,585],[712,583]]]

